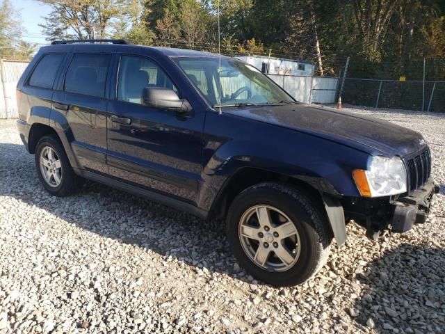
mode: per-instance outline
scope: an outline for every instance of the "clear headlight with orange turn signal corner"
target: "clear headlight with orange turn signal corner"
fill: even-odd
[[[380,197],[405,193],[406,170],[398,158],[372,157],[367,170],[353,171],[355,184],[362,196]]]

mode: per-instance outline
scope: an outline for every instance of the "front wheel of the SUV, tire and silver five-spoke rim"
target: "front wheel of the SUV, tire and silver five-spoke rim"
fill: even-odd
[[[332,237],[326,219],[302,191],[261,183],[232,202],[227,239],[238,262],[255,278],[275,286],[298,285],[327,260]]]

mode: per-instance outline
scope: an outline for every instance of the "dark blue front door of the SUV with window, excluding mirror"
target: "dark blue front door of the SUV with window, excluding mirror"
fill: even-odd
[[[108,104],[109,173],[124,182],[196,202],[204,112],[181,116],[140,103],[143,88],[180,92],[163,68],[145,56],[120,55],[115,100]]]

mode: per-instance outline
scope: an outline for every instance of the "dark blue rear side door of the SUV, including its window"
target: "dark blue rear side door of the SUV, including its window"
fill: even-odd
[[[111,52],[73,52],[53,109],[67,120],[68,138],[79,166],[108,173],[106,166],[106,108]]]

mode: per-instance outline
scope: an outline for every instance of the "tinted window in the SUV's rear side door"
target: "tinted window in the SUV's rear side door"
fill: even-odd
[[[109,54],[74,54],[65,76],[65,91],[105,96]]]

